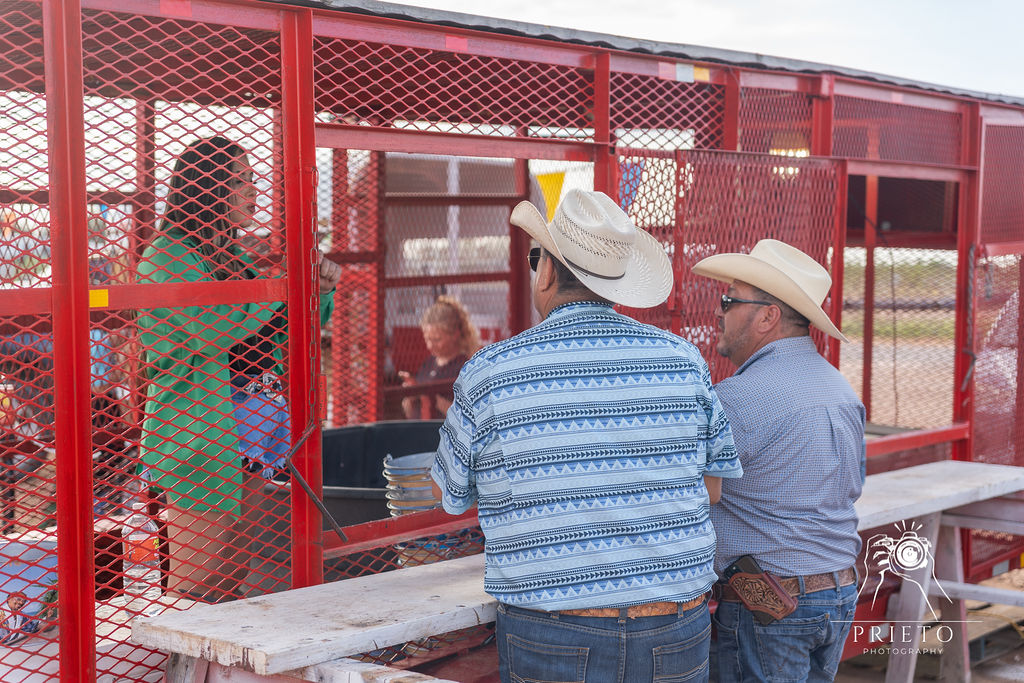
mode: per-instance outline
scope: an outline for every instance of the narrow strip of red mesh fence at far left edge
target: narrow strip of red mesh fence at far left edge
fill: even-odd
[[[42,11],[0,8],[0,290],[39,301],[49,287],[50,217]],[[31,308],[31,306],[28,306]],[[0,316],[0,679],[58,667],[52,316]],[[25,596],[18,604],[17,593]],[[17,609],[35,633],[11,629]],[[28,629],[27,629],[28,630]]]

